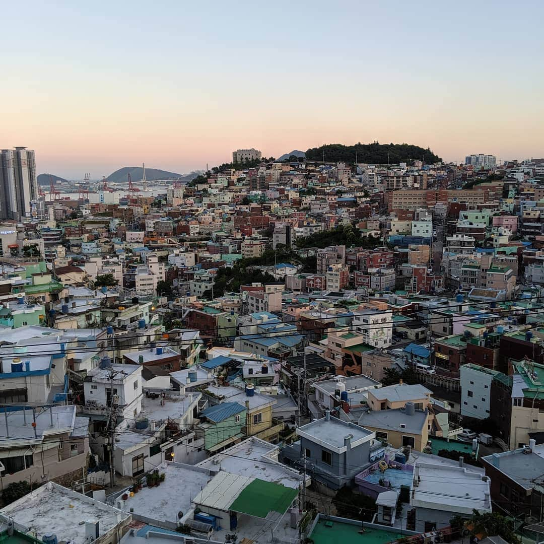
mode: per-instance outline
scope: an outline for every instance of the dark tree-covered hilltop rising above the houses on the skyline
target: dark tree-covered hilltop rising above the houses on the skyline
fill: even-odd
[[[348,164],[411,164],[414,160],[423,160],[426,164],[442,162],[429,147],[423,149],[411,144],[379,144],[377,141],[372,144],[359,142],[355,145],[325,144],[312,147],[306,151],[306,160],[332,163],[342,161]]]

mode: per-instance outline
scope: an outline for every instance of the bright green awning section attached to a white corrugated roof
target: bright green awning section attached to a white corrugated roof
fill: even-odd
[[[244,487],[231,504],[230,510],[263,519],[266,519],[271,511],[283,516],[298,494],[298,490],[291,487],[256,478]]]

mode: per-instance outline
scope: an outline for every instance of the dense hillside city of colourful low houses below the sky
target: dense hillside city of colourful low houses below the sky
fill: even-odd
[[[539,541],[544,158],[39,162],[0,151],[7,542]]]

